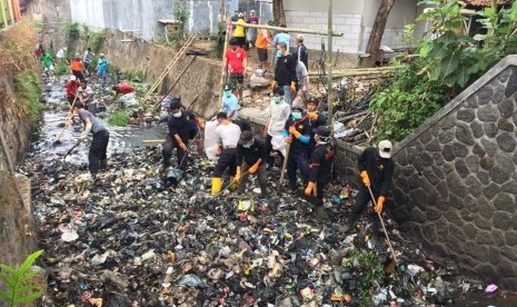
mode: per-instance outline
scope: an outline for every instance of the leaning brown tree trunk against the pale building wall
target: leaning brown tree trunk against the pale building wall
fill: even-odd
[[[361,67],[374,67],[379,56],[380,41],[385,33],[386,22],[388,21],[389,12],[395,4],[395,0],[382,0],[380,2],[377,17],[375,18],[374,28],[371,28],[370,38],[366,47],[366,53],[370,55],[367,58],[362,58]]]

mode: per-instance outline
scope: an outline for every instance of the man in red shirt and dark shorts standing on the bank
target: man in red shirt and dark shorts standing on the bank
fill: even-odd
[[[246,51],[239,47],[239,41],[236,38],[230,39],[230,48],[225,52],[225,61],[222,62],[222,76],[229,75],[232,88],[237,88],[239,105],[242,105],[242,86],[246,76]]]

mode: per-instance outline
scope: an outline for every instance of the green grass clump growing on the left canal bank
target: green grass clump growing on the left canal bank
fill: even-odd
[[[39,81],[38,73],[31,70],[23,70],[14,80],[14,91],[18,97],[17,107],[26,115],[27,121],[31,126],[38,122],[43,109],[43,105],[40,102]]]

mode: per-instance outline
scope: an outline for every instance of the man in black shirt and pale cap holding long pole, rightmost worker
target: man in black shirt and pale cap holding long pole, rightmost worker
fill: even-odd
[[[382,212],[386,197],[391,189],[395,170],[395,164],[391,160],[391,148],[392,145],[389,140],[381,140],[377,148],[367,148],[359,156],[358,167],[364,186],[360,187],[356,204],[351,208],[347,222],[348,227],[355,224],[366,209],[368,202],[372,200],[368,187],[374,192],[375,201],[372,200],[372,204],[377,202],[374,210],[379,214]],[[379,219],[374,217],[374,235],[376,236],[379,228]]]

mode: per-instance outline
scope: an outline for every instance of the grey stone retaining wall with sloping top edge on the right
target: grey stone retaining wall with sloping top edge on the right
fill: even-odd
[[[395,204],[434,256],[517,289],[517,56],[509,56],[394,148]],[[340,146],[357,177],[360,149]]]

